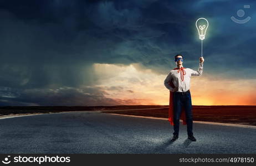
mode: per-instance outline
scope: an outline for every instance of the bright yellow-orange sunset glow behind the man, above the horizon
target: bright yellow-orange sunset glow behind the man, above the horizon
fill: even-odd
[[[130,105],[168,105],[169,91],[163,85],[168,71],[163,75],[140,64],[94,64],[94,72],[101,78],[97,87],[105,91],[105,97]],[[216,79],[204,70],[202,76],[192,76],[192,105],[256,105],[255,83]]]

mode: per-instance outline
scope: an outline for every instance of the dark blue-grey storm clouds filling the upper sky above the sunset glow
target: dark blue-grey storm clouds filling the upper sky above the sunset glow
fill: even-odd
[[[230,17],[243,9],[241,1],[1,1],[2,101],[12,105],[125,103],[104,98],[103,89],[93,89],[101,96],[76,89],[98,83],[94,63],[140,63],[166,74],[175,67],[173,55],[181,53],[185,66],[196,70],[201,45],[194,21],[199,17],[210,23],[204,40],[204,71],[215,78],[254,79],[256,3],[246,4],[252,8],[244,9],[244,17],[252,20],[236,24]],[[44,93],[60,87],[75,90]]]

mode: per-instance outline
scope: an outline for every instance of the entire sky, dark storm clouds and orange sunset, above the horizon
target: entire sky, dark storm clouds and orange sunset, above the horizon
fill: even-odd
[[[256,1],[2,0],[0,106],[167,105],[173,56],[198,69],[200,17],[193,105],[256,105]]]

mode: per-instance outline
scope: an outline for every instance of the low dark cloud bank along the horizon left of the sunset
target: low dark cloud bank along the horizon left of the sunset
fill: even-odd
[[[134,100],[107,98],[104,90],[93,87],[75,89],[61,87],[59,89],[0,89],[1,106],[110,106],[139,105]]]

